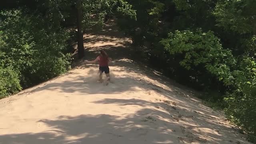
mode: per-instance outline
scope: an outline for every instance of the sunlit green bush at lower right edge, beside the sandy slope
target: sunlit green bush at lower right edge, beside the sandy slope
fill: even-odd
[[[236,90],[228,92],[226,115],[256,142],[256,62],[243,59],[234,72]]]

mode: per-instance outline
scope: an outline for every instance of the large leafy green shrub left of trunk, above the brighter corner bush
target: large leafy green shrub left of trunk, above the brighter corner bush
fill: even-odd
[[[20,74],[23,88],[32,86],[69,68],[66,55],[68,33],[44,28],[40,16],[24,15],[21,10],[2,11],[0,14],[0,63]]]

